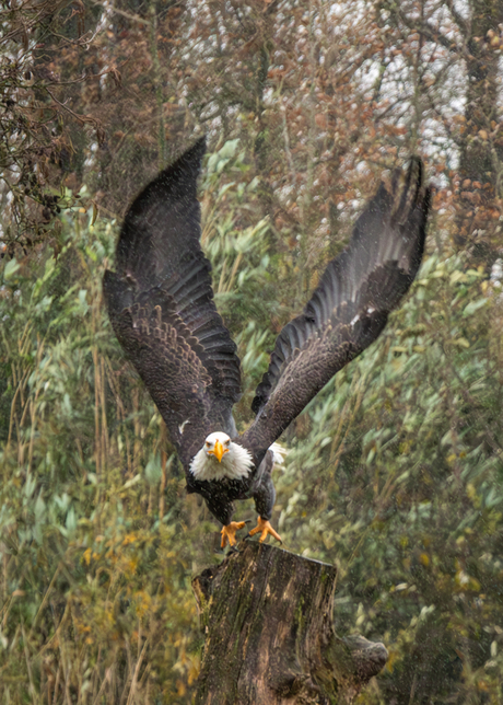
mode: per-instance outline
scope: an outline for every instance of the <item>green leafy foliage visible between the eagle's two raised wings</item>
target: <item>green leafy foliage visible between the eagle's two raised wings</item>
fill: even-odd
[[[202,245],[213,265],[215,302],[233,332],[246,381],[237,416],[249,420],[252,396],[273,347],[270,321],[281,314],[268,219],[256,221],[257,180],[249,180],[238,140],[211,154],[203,180]]]

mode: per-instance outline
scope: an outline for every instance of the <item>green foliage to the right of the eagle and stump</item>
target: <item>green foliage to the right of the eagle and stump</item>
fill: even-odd
[[[430,256],[278,482],[289,548],[340,569],[340,629],[389,649],[365,703],[502,701],[500,291]]]

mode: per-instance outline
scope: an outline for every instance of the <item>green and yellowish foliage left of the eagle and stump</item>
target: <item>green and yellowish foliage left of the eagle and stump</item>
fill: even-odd
[[[186,703],[212,555],[104,315],[116,230],[67,234],[3,270],[0,700]]]

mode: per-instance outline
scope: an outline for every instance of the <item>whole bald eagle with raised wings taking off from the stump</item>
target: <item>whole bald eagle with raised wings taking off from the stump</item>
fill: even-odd
[[[430,188],[410,160],[387,189],[381,184],[301,315],[279,334],[252,404],[255,420],[237,435],[241,397],[236,345],[219,315],[211,266],[200,245],[197,180],[204,138],[162,171],[127,211],[104,293],[114,331],[163,417],[184,466],[223,524],[222,547],[245,522],[234,500],[253,497],[249,533],[281,541],[270,524],[276,499],[277,439],[325,384],[386,325],[421,263]]]

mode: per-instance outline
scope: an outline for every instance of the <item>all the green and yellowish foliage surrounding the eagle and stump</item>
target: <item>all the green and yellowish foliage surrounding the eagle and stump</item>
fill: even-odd
[[[204,178],[244,427],[299,263],[269,257],[238,143]],[[0,700],[182,705],[202,643],[190,579],[217,559],[215,525],[112,333],[117,228],[92,220],[69,215],[58,259],[1,275]],[[502,701],[502,321],[482,271],[431,255],[377,344],[284,435],[273,521],[288,548],[337,564],[339,632],[389,650],[362,703]]]

